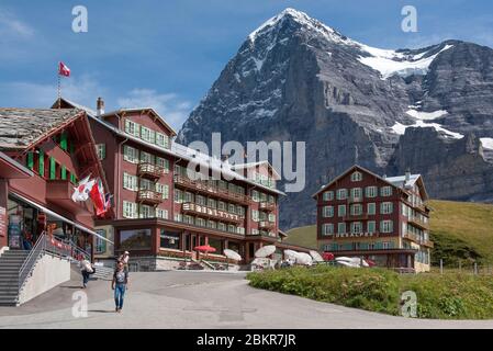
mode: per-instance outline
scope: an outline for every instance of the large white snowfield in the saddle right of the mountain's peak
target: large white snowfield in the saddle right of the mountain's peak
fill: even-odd
[[[428,52],[418,55],[404,55],[395,50],[380,49],[361,44],[360,47],[370,56],[360,56],[358,60],[382,75],[382,80],[392,76],[408,77],[413,75],[425,76],[428,72],[429,65],[442,52],[449,49],[453,45],[446,45],[440,52],[435,55],[424,57]]]

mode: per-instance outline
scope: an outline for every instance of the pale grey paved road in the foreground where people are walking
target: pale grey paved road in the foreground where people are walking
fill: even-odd
[[[253,288],[244,276],[132,273],[122,314],[114,313],[110,282],[91,281],[88,316],[79,318],[74,280],[21,307],[0,307],[0,328],[493,328],[493,320],[408,319],[318,303]]]

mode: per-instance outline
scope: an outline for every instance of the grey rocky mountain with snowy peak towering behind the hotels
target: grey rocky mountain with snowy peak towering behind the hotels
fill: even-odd
[[[306,143],[306,186],[282,200],[284,229],[314,223],[312,194],[354,163],[422,173],[432,197],[493,202],[493,49],[379,49],[287,9],[247,37],[178,140],[214,132]]]

